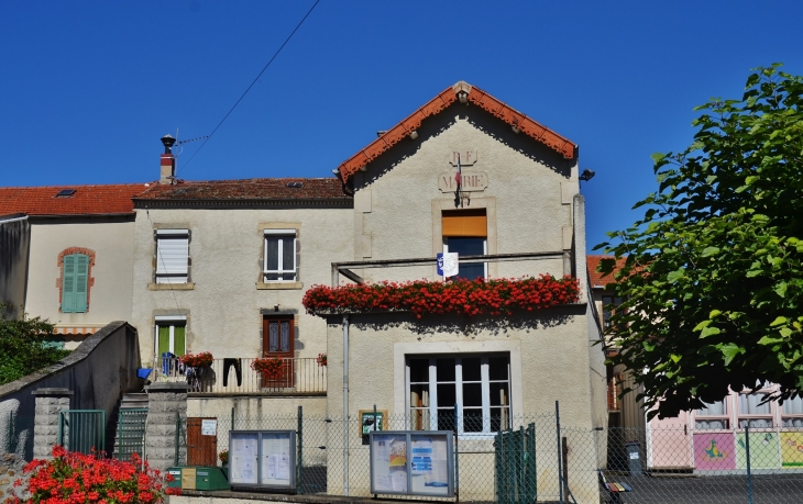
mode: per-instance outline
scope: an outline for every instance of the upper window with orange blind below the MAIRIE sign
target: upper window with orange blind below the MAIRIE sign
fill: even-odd
[[[459,257],[487,254],[485,209],[444,211],[441,229],[444,253],[458,253]],[[487,264],[461,262],[458,277],[466,280],[487,277]]]

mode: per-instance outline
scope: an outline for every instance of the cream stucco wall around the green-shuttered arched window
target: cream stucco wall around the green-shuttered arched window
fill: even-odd
[[[122,217],[31,219],[25,311],[41,316],[65,333],[96,331],[131,315],[134,254],[133,215]],[[59,305],[59,255],[80,249],[90,254],[88,303],[85,313],[64,313]],[[84,335],[64,334],[73,349]]]

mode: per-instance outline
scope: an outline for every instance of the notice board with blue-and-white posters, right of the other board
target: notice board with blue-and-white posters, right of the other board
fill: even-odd
[[[453,433],[370,433],[371,493],[454,495]]]

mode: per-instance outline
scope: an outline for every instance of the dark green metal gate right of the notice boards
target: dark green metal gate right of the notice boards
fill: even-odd
[[[536,424],[525,429],[501,432],[496,447],[496,502],[499,504],[532,504],[536,488]]]

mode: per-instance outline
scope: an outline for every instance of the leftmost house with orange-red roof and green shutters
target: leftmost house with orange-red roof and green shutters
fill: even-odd
[[[0,220],[0,229],[18,228],[15,242],[2,242],[2,278],[13,285],[9,298],[24,304],[29,315],[55,324],[58,345],[75,348],[109,322],[131,315],[131,198],[144,189],[142,183],[0,188],[0,215],[18,215]]]

